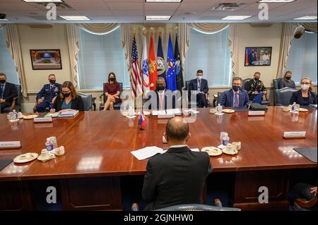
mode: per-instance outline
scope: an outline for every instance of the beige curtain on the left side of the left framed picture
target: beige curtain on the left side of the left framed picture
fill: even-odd
[[[24,97],[28,97],[27,85],[25,82],[25,72],[23,67],[23,59],[21,52],[20,37],[18,32],[18,25],[6,24],[4,26],[6,31],[6,45],[11,53],[20,80],[21,92]]]

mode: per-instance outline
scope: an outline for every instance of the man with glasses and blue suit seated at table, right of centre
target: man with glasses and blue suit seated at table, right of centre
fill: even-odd
[[[223,107],[245,107],[249,102],[249,95],[246,90],[242,90],[242,78],[236,77],[232,80],[232,89],[227,90],[220,96],[220,103]]]

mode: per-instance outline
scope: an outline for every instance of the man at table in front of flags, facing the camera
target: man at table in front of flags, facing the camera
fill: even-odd
[[[152,109],[152,108],[155,108],[158,110],[175,109],[175,96],[168,95],[168,92],[171,92],[171,91],[167,90],[165,87],[166,87],[166,84],[165,84],[164,78],[159,77],[155,80],[155,91],[148,92],[147,96],[148,96],[148,101],[151,101],[151,97],[154,96],[156,99],[156,102],[155,101],[151,102],[148,109]]]

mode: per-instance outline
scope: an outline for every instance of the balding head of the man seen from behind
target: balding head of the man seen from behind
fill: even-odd
[[[189,125],[182,117],[170,118],[165,127],[165,134],[169,142],[184,142],[189,135]]]

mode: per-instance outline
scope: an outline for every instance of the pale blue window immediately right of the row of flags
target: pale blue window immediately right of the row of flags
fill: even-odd
[[[230,85],[232,62],[228,47],[229,28],[207,35],[190,29],[190,44],[184,61],[184,80],[195,78],[196,71],[204,71],[208,86]]]

